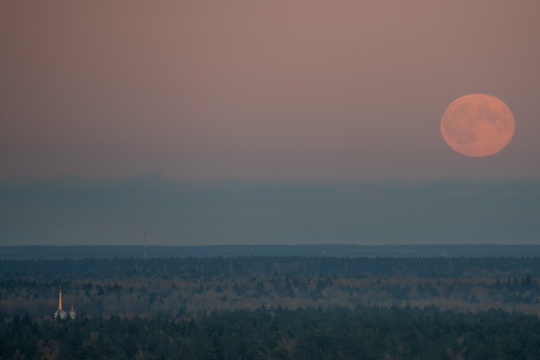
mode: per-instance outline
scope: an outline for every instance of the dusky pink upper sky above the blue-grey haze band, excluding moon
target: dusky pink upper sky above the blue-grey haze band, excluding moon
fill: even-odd
[[[540,2],[0,4],[1,177],[540,177]],[[501,153],[442,140],[501,98]]]

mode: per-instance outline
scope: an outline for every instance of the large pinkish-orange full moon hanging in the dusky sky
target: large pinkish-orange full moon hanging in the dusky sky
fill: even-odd
[[[515,122],[506,104],[495,96],[471,94],[454,100],[441,119],[444,141],[466,156],[490,156],[514,135]]]

